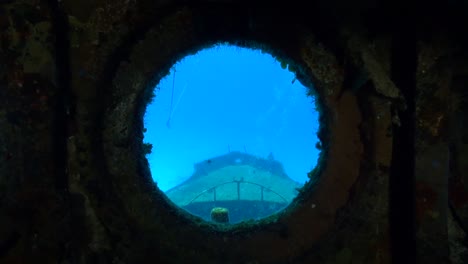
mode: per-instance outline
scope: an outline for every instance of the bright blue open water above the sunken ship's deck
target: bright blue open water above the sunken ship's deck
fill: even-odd
[[[159,82],[144,117],[153,179],[166,191],[195,163],[242,151],[272,154],[305,183],[319,154],[318,112],[306,89],[258,50],[220,45],[185,57]]]

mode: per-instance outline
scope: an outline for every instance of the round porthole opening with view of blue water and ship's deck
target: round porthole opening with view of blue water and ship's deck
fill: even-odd
[[[154,93],[144,116],[146,157],[180,208],[207,221],[261,219],[311,180],[319,112],[313,87],[284,60],[217,45],[176,63]]]

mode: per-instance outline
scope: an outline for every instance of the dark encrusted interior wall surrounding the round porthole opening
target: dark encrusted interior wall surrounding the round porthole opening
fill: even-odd
[[[3,1],[0,263],[467,263],[467,10]],[[227,229],[175,209],[141,146],[151,85],[217,41],[293,65],[324,111],[319,182]]]

